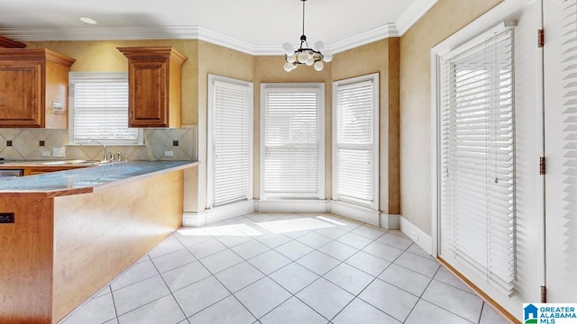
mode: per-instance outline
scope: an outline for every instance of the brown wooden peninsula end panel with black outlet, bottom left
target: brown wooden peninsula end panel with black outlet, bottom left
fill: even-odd
[[[0,323],[50,324],[52,292],[52,200],[0,198]]]

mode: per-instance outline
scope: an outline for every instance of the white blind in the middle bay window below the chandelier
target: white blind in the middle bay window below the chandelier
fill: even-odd
[[[323,85],[262,85],[261,197],[324,197]]]

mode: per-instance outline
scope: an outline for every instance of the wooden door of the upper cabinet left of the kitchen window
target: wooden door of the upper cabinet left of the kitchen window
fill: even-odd
[[[41,127],[41,65],[0,62],[0,127]]]

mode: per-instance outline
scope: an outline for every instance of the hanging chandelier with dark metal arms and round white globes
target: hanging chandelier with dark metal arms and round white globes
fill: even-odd
[[[307,0],[300,0],[303,2],[303,34],[300,36],[300,46],[295,49],[295,46],[289,42],[282,45],[282,50],[285,52],[285,71],[290,72],[298,67],[299,64],[306,64],[307,66],[314,66],[316,71],[322,71],[325,64],[333,60],[333,54],[323,54],[325,44],[322,41],[317,41],[313,48],[308,46],[307,36],[305,35],[305,2]]]

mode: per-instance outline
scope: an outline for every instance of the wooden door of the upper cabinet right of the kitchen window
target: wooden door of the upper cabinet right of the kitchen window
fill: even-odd
[[[130,127],[168,127],[167,63],[130,63]]]

